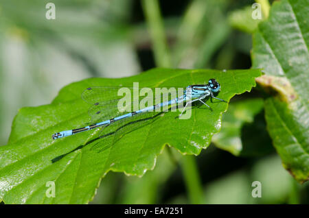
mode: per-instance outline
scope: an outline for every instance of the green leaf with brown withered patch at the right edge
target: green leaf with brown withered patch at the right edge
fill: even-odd
[[[266,122],[284,167],[296,180],[309,178],[309,7],[306,0],[273,3],[253,37],[253,67],[274,97],[265,101]]]

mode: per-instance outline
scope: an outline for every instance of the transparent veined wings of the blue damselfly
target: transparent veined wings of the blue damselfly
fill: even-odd
[[[124,102],[119,102],[120,99],[123,98],[123,96],[118,96],[119,88],[122,87],[93,87],[84,90],[84,93],[82,93],[82,99],[91,104],[89,108],[91,123],[98,123],[100,121],[119,117],[147,106],[153,106],[157,104],[158,101],[161,103],[174,97],[168,95],[168,99],[164,99],[163,96],[160,95],[160,97],[157,97],[156,99],[153,89],[148,88],[148,90],[152,90],[152,97],[149,96],[149,93],[147,95],[141,94],[141,96],[138,96],[137,99],[131,97],[130,100],[126,101],[126,104],[123,104]],[[134,91],[133,87],[125,88],[127,88],[126,91],[130,93],[133,93]],[[138,88],[138,91],[139,93],[143,93],[143,88]],[[150,97],[150,99],[144,101],[146,97]],[[107,149],[117,143],[117,141],[119,141],[119,139],[125,134],[128,134],[128,132],[133,132],[145,125],[148,125],[156,119],[159,119],[159,114],[161,113],[163,112],[143,112],[103,126],[100,130],[98,130],[100,131],[98,138],[91,141],[92,149],[102,152],[102,150]]]

